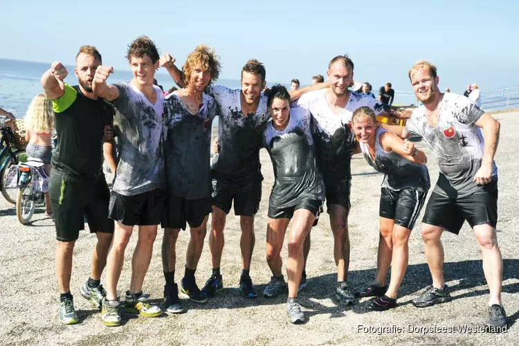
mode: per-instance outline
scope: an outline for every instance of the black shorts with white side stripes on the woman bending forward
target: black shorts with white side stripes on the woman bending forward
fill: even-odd
[[[386,219],[393,219],[394,224],[412,230],[426,197],[427,192],[421,192],[415,188],[399,191],[382,188],[379,215]]]

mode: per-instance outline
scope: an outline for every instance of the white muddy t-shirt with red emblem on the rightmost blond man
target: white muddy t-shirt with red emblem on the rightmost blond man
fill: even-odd
[[[484,154],[483,136],[475,122],[484,111],[455,93],[445,93],[438,107],[436,127],[428,125],[424,106],[415,109],[406,123],[408,134],[424,138],[438,158],[440,174],[434,191],[450,198],[482,191],[483,185],[473,178]],[[498,168],[495,162],[492,165],[492,180],[496,180]]]

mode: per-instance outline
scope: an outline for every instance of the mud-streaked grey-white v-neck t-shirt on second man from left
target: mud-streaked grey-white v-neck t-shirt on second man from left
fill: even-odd
[[[133,196],[163,188],[163,93],[153,86],[157,100],[152,104],[131,82],[113,86],[119,90],[113,101],[119,150],[113,191]]]

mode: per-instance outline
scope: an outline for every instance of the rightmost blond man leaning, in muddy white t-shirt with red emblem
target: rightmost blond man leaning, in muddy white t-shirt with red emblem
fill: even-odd
[[[427,203],[421,230],[432,286],[413,300],[416,307],[451,300],[444,282],[444,229],[458,234],[464,221],[473,228],[483,255],[483,271],[489,284],[489,320],[499,330],[507,324],[501,302],[502,258],[495,225],[498,221],[498,170],[493,161],[500,124],[468,98],[438,89],[436,67],[418,62],[409,71],[417,98],[405,129],[391,127],[402,138],[421,136],[437,156],[440,174]],[[498,329],[496,329],[498,328]]]

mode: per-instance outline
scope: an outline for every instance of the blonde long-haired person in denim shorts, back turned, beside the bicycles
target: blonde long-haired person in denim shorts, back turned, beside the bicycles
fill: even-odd
[[[25,116],[25,139],[27,156],[39,158],[45,164],[45,170],[51,173],[52,143],[51,137],[54,128],[54,112],[51,100],[40,93],[30,102]],[[52,215],[53,210],[48,192],[45,194],[45,212]]]

